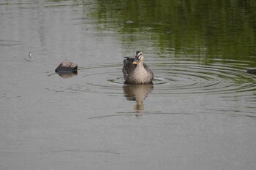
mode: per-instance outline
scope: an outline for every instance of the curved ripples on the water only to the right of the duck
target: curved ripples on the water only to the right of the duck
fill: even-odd
[[[158,94],[219,94],[256,90],[255,77],[245,72],[246,62],[215,61],[211,66],[187,63],[187,61],[158,64],[162,65],[165,76],[171,77],[169,83],[157,88]]]

